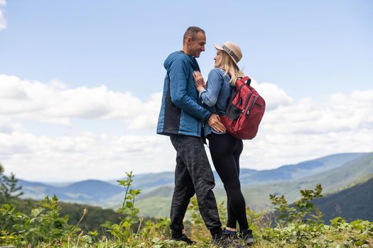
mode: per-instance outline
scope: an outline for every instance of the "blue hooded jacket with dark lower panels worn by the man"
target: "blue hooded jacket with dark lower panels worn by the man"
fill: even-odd
[[[157,133],[200,137],[202,122],[207,122],[211,112],[198,103],[193,79],[193,71],[200,71],[197,60],[179,51],[168,55],[163,65],[167,74]]]

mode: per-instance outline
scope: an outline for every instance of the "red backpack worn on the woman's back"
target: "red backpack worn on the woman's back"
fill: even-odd
[[[232,87],[227,112],[220,116],[227,132],[240,140],[252,140],[256,136],[266,110],[266,102],[250,86],[251,81],[249,77],[237,79],[236,86]]]

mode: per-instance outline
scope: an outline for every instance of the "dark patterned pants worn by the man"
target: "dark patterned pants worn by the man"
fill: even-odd
[[[200,137],[171,135],[171,142],[177,152],[175,188],[171,203],[171,229],[183,230],[183,218],[190,198],[196,194],[198,208],[207,229],[222,226],[212,188],[214,175],[208,162],[205,147]]]

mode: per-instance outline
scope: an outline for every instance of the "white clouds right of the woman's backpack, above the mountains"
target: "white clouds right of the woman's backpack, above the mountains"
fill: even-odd
[[[244,141],[242,164],[270,169],[339,152],[373,152],[372,106],[371,90],[267,111],[258,136]]]

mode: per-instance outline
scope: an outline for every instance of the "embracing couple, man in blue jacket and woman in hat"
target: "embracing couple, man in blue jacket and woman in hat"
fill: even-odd
[[[212,235],[211,242],[219,247],[242,247],[254,242],[239,183],[243,145],[242,140],[226,133],[220,122],[220,115],[227,111],[231,87],[237,78],[244,77],[237,65],[242,52],[231,42],[215,45],[215,68],[205,84],[195,60],[205,51],[205,44],[205,31],[190,27],[183,37],[183,50],[171,53],[164,62],[167,73],[157,133],[168,135],[177,152],[171,239],[193,244],[183,232],[183,218],[190,198],[196,194],[200,214]],[[228,220],[224,229],[212,192],[215,181],[202,137],[209,140],[212,162],[227,192]]]

